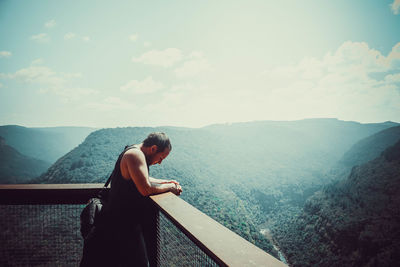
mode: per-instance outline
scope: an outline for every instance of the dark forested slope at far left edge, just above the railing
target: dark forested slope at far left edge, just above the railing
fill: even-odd
[[[26,183],[41,175],[51,164],[22,155],[0,136],[0,182]]]

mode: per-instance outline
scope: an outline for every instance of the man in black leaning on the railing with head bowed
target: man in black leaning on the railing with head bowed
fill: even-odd
[[[171,149],[165,133],[151,133],[143,143],[125,147],[115,163],[109,199],[93,234],[85,240],[81,267],[150,266],[148,196],[164,192],[180,195],[182,188],[175,180],[149,177],[149,166],[161,164]]]

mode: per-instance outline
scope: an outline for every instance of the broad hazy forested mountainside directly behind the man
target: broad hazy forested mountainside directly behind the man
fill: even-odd
[[[180,181],[183,199],[270,251],[258,225],[273,211],[301,207],[330,181],[324,173],[350,145],[391,125],[319,119],[201,129],[102,129],[35,182],[104,182],[125,145],[164,131],[172,140],[172,152],[162,165],[150,168],[150,174]]]

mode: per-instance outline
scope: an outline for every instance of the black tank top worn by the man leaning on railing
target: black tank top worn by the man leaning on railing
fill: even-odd
[[[122,228],[141,223],[148,201],[148,197],[139,193],[131,179],[126,180],[122,177],[120,167],[122,156],[130,149],[139,149],[139,147],[136,145],[126,146],[119,155],[112,173],[109,199],[103,207],[106,221]]]

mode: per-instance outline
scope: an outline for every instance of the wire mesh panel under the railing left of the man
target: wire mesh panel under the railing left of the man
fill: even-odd
[[[78,266],[83,205],[0,205],[0,266]]]

